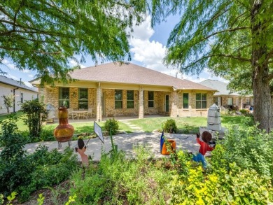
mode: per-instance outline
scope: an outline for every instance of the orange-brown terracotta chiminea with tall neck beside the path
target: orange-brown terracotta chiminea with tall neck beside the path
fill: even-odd
[[[68,123],[68,111],[66,107],[58,108],[59,125],[54,129],[54,136],[58,142],[71,140],[74,127]]]

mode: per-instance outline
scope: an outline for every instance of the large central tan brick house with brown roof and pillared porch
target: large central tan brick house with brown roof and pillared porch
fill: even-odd
[[[55,83],[55,87],[39,87],[40,80],[31,83],[39,87],[45,104],[56,108],[65,104],[76,110],[92,108],[97,121],[101,121],[102,116],[207,116],[216,92],[210,87],[131,63],[78,69],[71,77],[76,80],[67,85]]]

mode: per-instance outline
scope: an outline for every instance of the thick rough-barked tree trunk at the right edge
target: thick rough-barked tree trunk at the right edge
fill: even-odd
[[[267,48],[264,43],[266,36],[262,28],[262,22],[258,20],[259,10],[262,1],[253,0],[253,9],[251,12],[251,35],[252,35],[252,85],[254,97],[254,120],[259,122],[260,129],[270,132],[273,125],[272,99],[269,88],[269,66],[262,64],[262,59],[267,56]]]

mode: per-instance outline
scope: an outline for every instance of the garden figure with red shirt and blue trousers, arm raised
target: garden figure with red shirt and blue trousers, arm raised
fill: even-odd
[[[215,142],[211,142],[211,133],[204,131],[202,133],[202,141],[200,140],[200,134],[196,134],[197,138],[196,141],[197,143],[200,144],[200,149],[199,149],[199,153],[197,155],[193,155],[193,160],[195,162],[202,162],[202,166],[204,168],[207,168],[207,162],[204,158],[204,155],[207,153],[207,151],[212,151],[214,150],[216,143]]]

